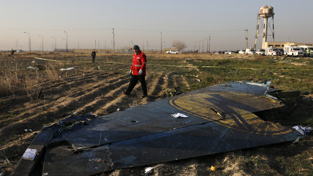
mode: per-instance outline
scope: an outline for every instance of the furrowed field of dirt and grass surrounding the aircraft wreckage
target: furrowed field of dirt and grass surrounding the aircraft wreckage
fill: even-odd
[[[40,59],[39,59],[40,58]],[[313,125],[313,59],[245,54],[147,54],[148,97],[137,84],[131,97],[121,96],[129,84],[132,54],[17,53],[0,55],[0,171],[9,175],[35,134],[75,111],[110,114],[166,97],[164,88],[183,92],[228,81],[271,81],[282,91],[300,91],[292,113],[279,112],[281,125]],[[33,67],[27,68],[27,67]],[[74,70],[62,71],[71,68]],[[168,78],[168,79],[164,79]],[[196,81],[200,79],[201,82]],[[39,91],[43,96],[38,97]],[[100,97],[100,98],[99,98]],[[32,129],[33,133],[24,129]],[[216,165],[218,170],[210,170]],[[149,166],[151,167],[151,166]],[[313,175],[313,135],[299,143],[218,153],[153,165],[149,175]],[[144,167],[99,175],[142,175]],[[38,167],[34,175],[41,175]],[[0,172],[0,173],[1,173]]]

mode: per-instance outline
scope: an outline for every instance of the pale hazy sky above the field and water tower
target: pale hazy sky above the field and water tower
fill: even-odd
[[[44,43],[44,51],[52,51],[52,37],[56,48],[65,49],[67,37],[69,49],[98,49],[98,43],[110,49],[112,28],[115,49],[137,44],[146,50],[148,41],[148,49],[160,50],[163,41],[164,48],[171,48],[173,40],[180,40],[187,45],[184,50],[200,45],[206,52],[213,32],[211,52],[242,49],[246,29],[248,47],[254,47],[259,9],[265,5],[274,8],[276,42],[313,43],[312,0],[12,0],[1,2],[0,50],[28,51],[29,34],[31,50],[42,50]]]

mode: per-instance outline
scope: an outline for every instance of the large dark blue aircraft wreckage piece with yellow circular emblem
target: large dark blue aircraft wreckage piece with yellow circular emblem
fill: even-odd
[[[71,115],[38,133],[28,147],[38,155],[21,158],[12,175],[30,175],[43,158],[43,175],[92,175],[303,138],[255,115],[285,106],[269,96],[282,93],[236,81],[105,116]]]

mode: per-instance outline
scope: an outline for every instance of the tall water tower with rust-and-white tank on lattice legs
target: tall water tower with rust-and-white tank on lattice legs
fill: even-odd
[[[262,42],[267,42],[267,37],[268,36],[273,36],[273,42],[274,42],[274,8],[272,6],[263,6],[260,8],[260,13],[259,13],[259,20],[257,24],[257,31],[256,31],[256,37],[255,37],[255,43],[254,43],[254,48],[256,47],[256,41],[258,39],[258,36],[263,36]],[[268,20],[268,18],[272,17],[272,21]],[[260,24],[260,18],[264,18],[264,26],[263,26],[263,34],[259,35],[259,24]],[[272,22],[272,23],[271,23]],[[273,26],[271,29],[270,26]],[[272,30],[272,35],[268,34],[268,28]]]

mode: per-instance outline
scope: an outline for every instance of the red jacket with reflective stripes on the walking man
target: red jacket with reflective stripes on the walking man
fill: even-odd
[[[146,75],[147,59],[146,55],[139,50],[138,54],[133,55],[133,64],[131,65],[131,74],[139,75],[138,72],[142,69],[142,75]]]

